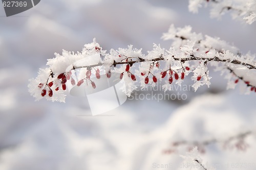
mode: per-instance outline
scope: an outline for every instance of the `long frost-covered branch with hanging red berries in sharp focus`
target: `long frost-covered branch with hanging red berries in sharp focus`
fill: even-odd
[[[168,90],[170,84],[181,85],[189,75],[196,91],[202,85],[209,87],[210,64],[215,70],[225,73],[228,88],[243,82],[248,87],[247,92],[256,92],[256,82],[252,79],[255,77],[255,56],[249,53],[242,55],[237,47],[219,38],[191,32],[190,26],[175,28],[172,25],[162,38],[173,40],[169,50],[154,44],[152,51],[142,54],[141,49],[130,45],[106,53],[94,39],[84,45],[82,52],[55,54],[55,58],[48,59],[48,67],[39,69],[38,76],[30,80],[29,91],[36,100],[46,98],[65,102],[67,85],[83,84],[95,89],[97,84],[91,79],[92,76],[110,78],[112,73],[118,73],[124,80],[122,90],[128,96],[138,83],[143,88],[162,81],[163,89]],[[78,73],[74,72],[78,69]]]

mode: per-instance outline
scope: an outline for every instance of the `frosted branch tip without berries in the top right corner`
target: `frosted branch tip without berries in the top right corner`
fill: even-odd
[[[227,11],[231,12],[232,17],[242,17],[247,23],[251,24],[256,20],[256,1],[255,0],[189,0],[188,9],[190,12],[198,13],[198,9],[210,5],[210,16],[219,18]]]

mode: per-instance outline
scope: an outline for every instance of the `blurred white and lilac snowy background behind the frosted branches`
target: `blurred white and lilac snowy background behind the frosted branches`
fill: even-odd
[[[188,1],[44,0],[36,7],[5,17],[0,8],[0,170],[41,169],[180,169],[184,149],[163,154],[170,142],[225,138],[255,129],[255,94],[225,90],[226,81],[210,72],[212,86],[186,101],[128,100],[105,115],[90,116],[87,99],[67,96],[66,103],[34,102],[30,78],[54,53],[81,51],[95,37],[104,50],[133,44],[146,53],[169,25],[221,37],[256,53],[256,24],[229,15],[210,19],[209,11],[187,10]],[[217,169],[255,169],[255,137],[246,152],[221,144],[202,154]],[[232,167],[234,163],[248,166]],[[154,165],[169,164],[167,168]],[[229,166],[227,166],[229,165]],[[184,169],[185,167],[181,168]]]

